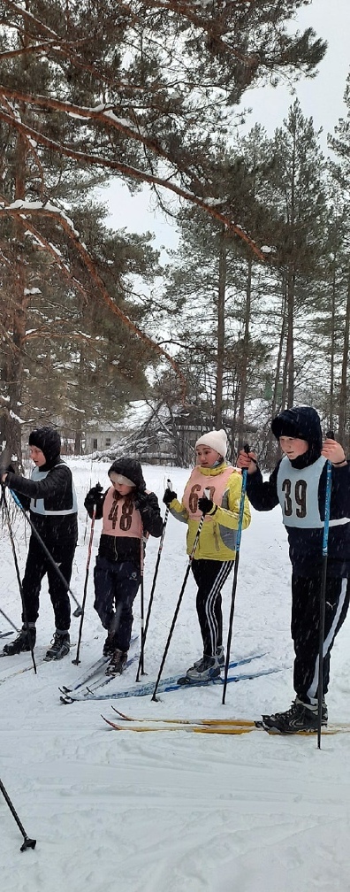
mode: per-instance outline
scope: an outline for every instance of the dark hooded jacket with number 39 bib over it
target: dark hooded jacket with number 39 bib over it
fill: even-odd
[[[321,456],[322,430],[320,418],[310,406],[285,409],[273,419],[275,437],[298,437],[306,440],[308,450],[290,461],[281,458],[263,481],[260,469],[247,476],[247,495],[257,511],[270,511],[281,504],[283,523],[289,539],[289,558],[293,572],[315,577],[322,572],[322,541],[327,462]],[[328,540],[328,574],[350,576],[350,465],[332,467],[330,524]],[[308,498],[309,496],[309,498]],[[348,519],[346,519],[348,518]]]

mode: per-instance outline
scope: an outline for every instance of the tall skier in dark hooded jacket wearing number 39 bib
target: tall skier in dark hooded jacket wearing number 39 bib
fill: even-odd
[[[344,623],[350,596],[350,464],[343,447],[330,438],[322,448],[320,418],[308,406],[285,409],[272,430],[284,457],[269,480],[256,466],[254,453],[241,451],[238,465],[248,469],[248,499],[258,511],[279,502],[289,538],[292,565],[291,634],[295,648],[297,698],[285,713],[263,716],[268,729],[281,733],[317,729],[319,621],[322,580],[327,459],[331,462],[330,532],[326,581],[322,692],[330,679],[330,650]],[[328,714],[322,703],[322,724]]]

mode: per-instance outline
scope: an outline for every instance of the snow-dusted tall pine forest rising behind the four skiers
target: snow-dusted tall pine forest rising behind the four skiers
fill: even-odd
[[[178,466],[187,425],[248,436],[271,467],[271,417],[295,402],[349,447],[350,81],[329,156],[297,94],[273,137],[242,129],[249,89],[297,90],[322,62],[305,5],[2,0],[0,419],[19,465],[33,422],[79,455],[132,401]],[[151,231],[108,227],[116,178],[176,227],[167,263]]]

